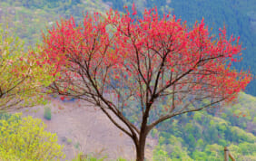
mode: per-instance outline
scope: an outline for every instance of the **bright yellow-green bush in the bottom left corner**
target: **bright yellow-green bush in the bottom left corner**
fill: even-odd
[[[0,158],[3,160],[60,160],[63,147],[56,134],[44,130],[41,119],[14,114],[0,119]],[[0,159],[0,160],[1,160]]]

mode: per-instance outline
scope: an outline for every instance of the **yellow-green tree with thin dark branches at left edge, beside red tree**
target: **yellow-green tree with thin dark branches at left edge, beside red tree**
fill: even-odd
[[[40,50],[35,50],[40,52]],[[48,65],[37,65],[35,54],[23,51],[23,43],[0,25],[0,110],[44,103],[40,92],[54,78]]]

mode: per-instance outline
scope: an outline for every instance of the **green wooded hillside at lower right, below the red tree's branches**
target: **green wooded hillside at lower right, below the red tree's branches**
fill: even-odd
[[[237,159],[256,160],[255,109],[256,98],[241,93],[235,105],[165,121],[153,130],[154,158],[223,160],[227,146]]]

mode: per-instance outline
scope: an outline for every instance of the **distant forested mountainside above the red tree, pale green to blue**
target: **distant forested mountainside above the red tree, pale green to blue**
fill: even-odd
[[[130,9],[136,5],[142,15],[144,8],[157,6],[160,14],[175,14],[187,24],[204,22],[212,28],[212,34],[218,35],[223,25],[228,35],[241,36],[245,48],[239,63],[233,66],[238,70],[251,69],[256,75],[256,1],[255,0],[1,0],[0,23],[15,26],[16,33],[27,43],[36,43],[45,26],[50,26],[60,17],[74,15],[83,19],[85,12],[103,12],[109,7],[123,12],[124,5]],[[256,80],[251,81],[246,90],[256,96]]]

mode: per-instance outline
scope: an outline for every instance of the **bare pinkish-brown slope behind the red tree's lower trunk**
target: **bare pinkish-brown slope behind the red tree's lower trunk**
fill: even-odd
[[[100,110],[77,100],[63,102],[53,99],[46,106],[52,109],[51,120],[44,118],[43,106],[22,111],[25,115],[42,118],[46,129],[57,134],[59,143],[64,145],[67,160],[72,160],[80,152],[97,158],[106,157],[104,160],[118,157],[134,159],[132,139],[116,128]],[[148,137],[146,158],[149,160],[153,157],[153,147],[156,145],[156,139]]]

